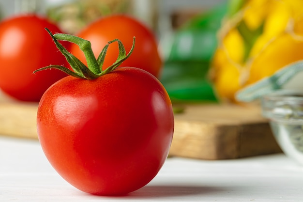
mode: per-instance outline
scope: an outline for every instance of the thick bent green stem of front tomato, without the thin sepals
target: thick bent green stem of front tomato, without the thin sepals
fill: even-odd
[[[62,41],[69,41],[79,46],[81,51],[83,51],[88,68],[96,75],[101,73],[101,69],[99,68],[99,64],[92,52],[91,49],[91,42],[88,40],[85,40],[83,38],[71,35],[71,34],[63,34],[63,33],[56,33],[54,34],[54,37],[57,40]]]

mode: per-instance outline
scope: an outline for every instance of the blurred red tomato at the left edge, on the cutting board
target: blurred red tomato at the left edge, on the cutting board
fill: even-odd
[[[35,15],[14,16],[0,23],[0,89],[4,93],[37,102],[51,84],[66,76],[57,69],[32,73],[53,63],[66,65],[45,27],[61,32],[55,24]]]

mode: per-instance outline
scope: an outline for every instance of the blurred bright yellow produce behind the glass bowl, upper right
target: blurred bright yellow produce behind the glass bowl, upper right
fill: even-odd
[[[303,0],[246,0],[218,33],[211,78],[223,100],[248,84],[303,60]]]

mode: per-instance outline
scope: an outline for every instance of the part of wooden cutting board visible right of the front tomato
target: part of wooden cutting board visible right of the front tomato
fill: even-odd
[[[170,155],[215,160],[278,152],[258,105],[186,105],[175,115]]]

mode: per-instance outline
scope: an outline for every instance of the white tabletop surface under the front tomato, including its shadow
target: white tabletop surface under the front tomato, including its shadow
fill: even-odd
[[[0,136],[0,202],[303,202],[303,166],[283,154],[233,160],[168,158],[147,186],[93,196],[65,182],[37,140]]]

